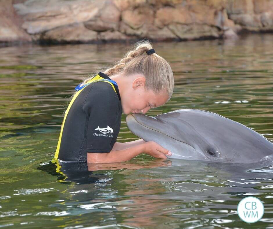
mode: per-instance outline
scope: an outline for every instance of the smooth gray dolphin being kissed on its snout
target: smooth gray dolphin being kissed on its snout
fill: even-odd
[[[182,109],[155,117],[129,114],[126,123],[144,141],[170,150],[168,158],[251,163],[273,155],[273,143],[256,131],[205,110]]]

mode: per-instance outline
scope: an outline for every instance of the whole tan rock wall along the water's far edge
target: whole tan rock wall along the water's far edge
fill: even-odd
[[[195,40],[273,31],[273,0],[0,1],[2,42]]]

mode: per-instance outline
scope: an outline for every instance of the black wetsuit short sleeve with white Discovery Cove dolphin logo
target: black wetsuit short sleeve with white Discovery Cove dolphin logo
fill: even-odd
[[[116,114],[119,100],[109,83],[97,84],[91,89],[89,93],[91,96],[87,96],[86,105],[83,107],[89,114],[86,152],[109,153],[112,150],[113,131],[117,125]]]

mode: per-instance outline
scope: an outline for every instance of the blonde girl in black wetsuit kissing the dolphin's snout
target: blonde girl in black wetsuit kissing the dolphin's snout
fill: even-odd
[[[141,153],[167,158],[171,152],[142,139],[116,142],[121,113],[145,114],[173,94],[173,72],[149,41],[136,43],[117,65],[78,85],[62,122],[55,159],[123,162]]]

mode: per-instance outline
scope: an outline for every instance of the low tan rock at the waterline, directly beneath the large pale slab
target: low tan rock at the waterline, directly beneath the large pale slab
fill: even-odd
[[[91,42],[97,40],[97,34],[87,29],[83,23],[78,23],[52,29],[38,38],[57,42]]]

